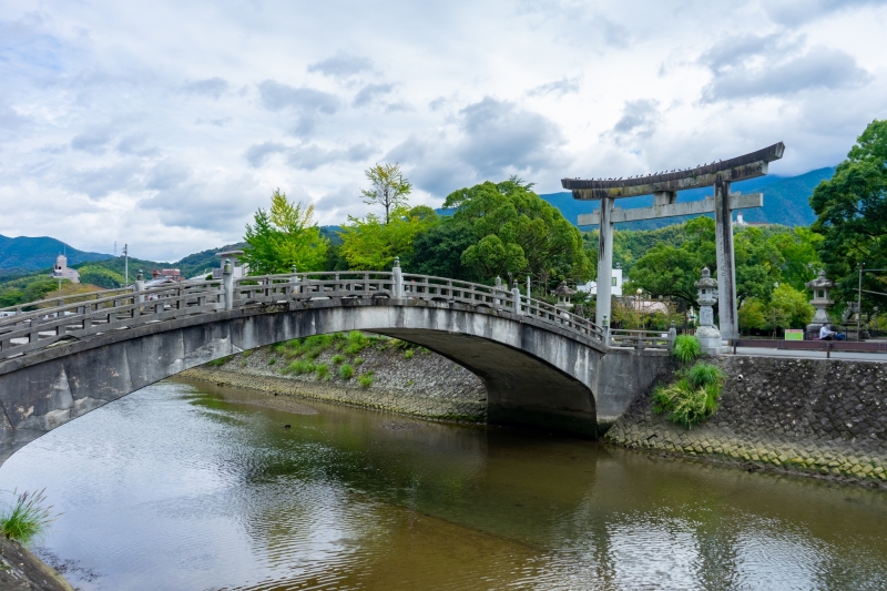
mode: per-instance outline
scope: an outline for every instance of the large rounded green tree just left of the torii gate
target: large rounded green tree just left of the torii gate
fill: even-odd
[[[462,265],[482,281],[509,272],[533,275],[543,287],[549,281],[588,279],[592,265],[581,233],[531,186],[512,177],[447,196],[443,206],[455,208],[455,222],[475,235],[475,243],[462,252]]]

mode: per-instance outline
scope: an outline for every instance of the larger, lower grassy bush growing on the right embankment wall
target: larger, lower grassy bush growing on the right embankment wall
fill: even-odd
[[[674,384],[653,390],[653,411],[667,412],[670,420],[690,429],[715,414],[723,381],[721,368],[699,363]]]

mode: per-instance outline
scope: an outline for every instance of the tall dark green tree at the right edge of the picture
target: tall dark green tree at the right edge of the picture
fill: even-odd
[[[817,218],[813,231],[826,274],[837,284],[837,299],[856,299],[857,267],[887,268],[887,120],[873,121],[810,196]],[[864,275],[864,289],[887,292],[885,279]],[[884,308],[887,297],[864,294],[863,309]]]

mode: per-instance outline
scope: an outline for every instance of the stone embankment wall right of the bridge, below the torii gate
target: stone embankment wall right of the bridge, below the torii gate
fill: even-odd
[[[887,364],[722,356],[721,408],[686,430],[639,397],[606,432],[620,446],[887,488]]]

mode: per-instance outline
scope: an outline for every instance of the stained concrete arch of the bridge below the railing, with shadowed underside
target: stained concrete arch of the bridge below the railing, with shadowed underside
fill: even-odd
[[[110,330],[2,360],[0,461],[77,417],[191,367],[283,340],[348,330],[409,340],[465,366],[487,387],[490,422],[590,437],[599,432],[597,395],[605,349],[593,339],[489,306],[328,298]],[[634,370],[620,373],[624,379]],[[619,376],[606,368],[603,374],[612,390]],[[608,390],[606,384],[602,387]]]

